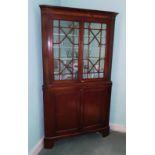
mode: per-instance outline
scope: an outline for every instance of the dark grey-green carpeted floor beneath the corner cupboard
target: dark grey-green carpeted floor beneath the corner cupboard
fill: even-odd
[[[111,132],[103,138],[92,133],[59,140],[53,149],[43,149],[39,155],[125,155],[126,134]]]

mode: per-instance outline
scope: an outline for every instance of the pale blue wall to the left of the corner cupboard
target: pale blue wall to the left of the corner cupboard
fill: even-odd
[[[58,5],[59,1],[29,0],[28,3],[28,152],[30,152],[44,135],[39,4]]]

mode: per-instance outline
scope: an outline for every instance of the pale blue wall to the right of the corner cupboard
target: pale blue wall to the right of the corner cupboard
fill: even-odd
[[[116,17],[112,62],[112,97],[110,123],[126,124],[126,1],[61,0],[61,6],[114,11]]]

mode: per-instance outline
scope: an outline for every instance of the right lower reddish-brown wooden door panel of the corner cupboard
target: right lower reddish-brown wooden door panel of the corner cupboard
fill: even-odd
[[[108,125],[111,88],[85,89],[82,95],[83,129],[96,129]]]

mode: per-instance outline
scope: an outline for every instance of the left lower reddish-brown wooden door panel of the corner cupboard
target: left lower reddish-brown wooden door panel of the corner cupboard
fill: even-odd
[[[54,93],[56,133],[71,132],[79,126],[80,93],[64,89]]]

